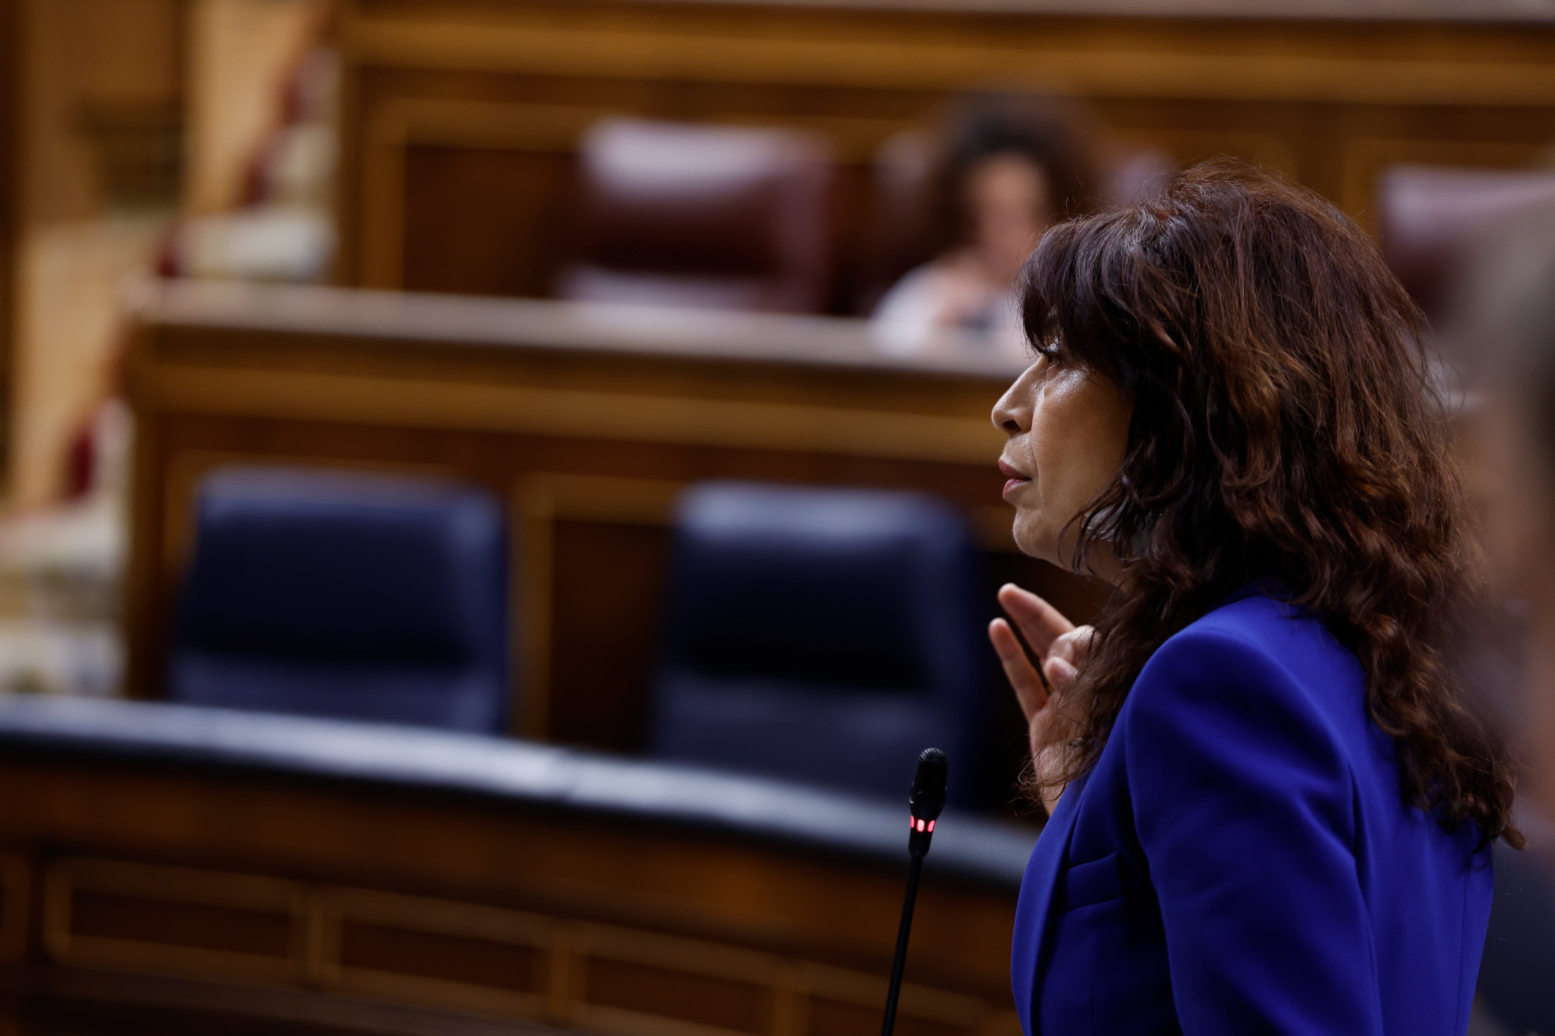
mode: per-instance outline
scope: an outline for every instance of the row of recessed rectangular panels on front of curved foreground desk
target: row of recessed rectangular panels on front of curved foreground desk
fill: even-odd
[[[482,902],[118,859],[59,859],[47,882],[44,947],[68,969],[314,986],[605,1036],[863,1036],[885,999],[875,974]],[[921,1036],[1008,1028],[1001,1005],[924,983],[903,986],[900,1013]]]

